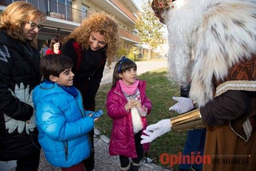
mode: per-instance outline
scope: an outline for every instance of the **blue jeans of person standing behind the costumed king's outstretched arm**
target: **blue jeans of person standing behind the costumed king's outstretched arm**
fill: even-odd
[[[187,140],[186,144],[183,148],[182,155],[191,155],[191,152],[194,152],[195,156],[198,155],[197,152],[201,152],[200,156],[203,157],[204,154],[204,142],[206,136],[206,129],[199,129],[199,130],[190,130],[187,133]],[[179,164],[179,169],[189,169],[191,164],[183,164],[187,162],[182,162]],[[192,164],[192,166],[198,170],[202,170],[203,163],[200,164]]]

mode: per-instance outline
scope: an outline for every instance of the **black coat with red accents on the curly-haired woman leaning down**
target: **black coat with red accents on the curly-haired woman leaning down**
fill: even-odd
[[[61,53],[73,60],[74,86],[82,93],[84,109],[94,111],[95,96],[106,63],[105,49],[98,51],[84,49],[77,41],[69,39],[63,45]]]

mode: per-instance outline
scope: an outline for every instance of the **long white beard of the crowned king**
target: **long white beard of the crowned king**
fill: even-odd
[[[177,0],[173,4],[175,8],[168,11],[165,20],[169,42],[168,70],[176,82],[186,85],[191,79],[194,59],[191,33],[200,20],[202,9],[199,9],[198,1]]]

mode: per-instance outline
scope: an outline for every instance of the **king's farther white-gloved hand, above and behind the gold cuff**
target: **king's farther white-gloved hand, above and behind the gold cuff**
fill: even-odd
[[[173,97],[173,99],[178,101],[178,103],[174,104],[173,106],[170,106],[169,111],[173,110],[179,114],[183,114],[190,111],[191,109],[194,109],[194,105],[190,98]]]

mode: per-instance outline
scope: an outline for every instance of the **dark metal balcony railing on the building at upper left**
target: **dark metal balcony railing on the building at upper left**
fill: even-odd
[[[18,0],[0,0],[0,5],[8,6]],[[89,13],[84,12],[63,4],[59,4],[49,0],[27,0],[26,2],[33,4],[48,16],[66,19],[72,22],[81,23],[84,18],[88,18]]]

